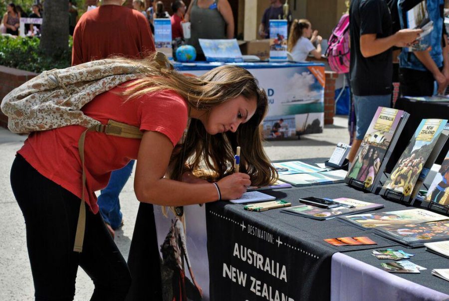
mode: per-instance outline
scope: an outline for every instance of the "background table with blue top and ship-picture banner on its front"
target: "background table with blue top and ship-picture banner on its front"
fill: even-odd
[[[224,65],[219,62],[175,63],[175,68],[195,76]],[[228,63],[229,64],[229,63]],[[263,122],[265,138],[295,138],[322,133],[324,125],[324,64],[320,63],[231,63],[247,69],[268,96],[269,111]],[[274,123],[283,119],[280,135]]]

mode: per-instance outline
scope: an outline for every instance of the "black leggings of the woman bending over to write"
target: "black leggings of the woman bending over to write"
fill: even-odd
[[[124,300],[131,276],[100,214],[86,208],[83,252],[77,253],[80,199],[20,155],[11,167],[11,186],[25,219],[35,300],[73,300],[78,266],[95,285],[91,300]]]

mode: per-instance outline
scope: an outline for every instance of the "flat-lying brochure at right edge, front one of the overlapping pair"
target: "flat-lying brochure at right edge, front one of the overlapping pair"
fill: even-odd
[[[379,226],[374,231],[382,237],[415,248],[428,242],[448,240],[449,220]]]

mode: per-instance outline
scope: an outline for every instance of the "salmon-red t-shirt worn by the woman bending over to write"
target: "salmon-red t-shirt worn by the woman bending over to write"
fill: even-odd
[[[81,110],[102,124],[112,119],[139,127],[141,131],[160,132],[175,146],[187,126],[186,101],[170,90],[124,101],[120,96],[124,89],[121,85],[100,94]],[[18,153],[40,174],[81,198],[82,169],[78,140],[85,130],[82,126],[67,126],[34,132]],[[112,170],[122,168],[131,159],[137,159],[139,146],[140,139],[87,133],[84,144],[85,200],[93,213],[98,212],[94,191],[106,187]]]

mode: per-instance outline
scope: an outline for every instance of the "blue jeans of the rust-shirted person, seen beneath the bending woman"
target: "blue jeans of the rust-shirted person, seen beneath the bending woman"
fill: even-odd
[[[131,160],[125,167],[112,171],[108,185],[98,196],[100,214],[112,229],[117,229],[122,224],[119,194],[133,171],[134,162]]]

